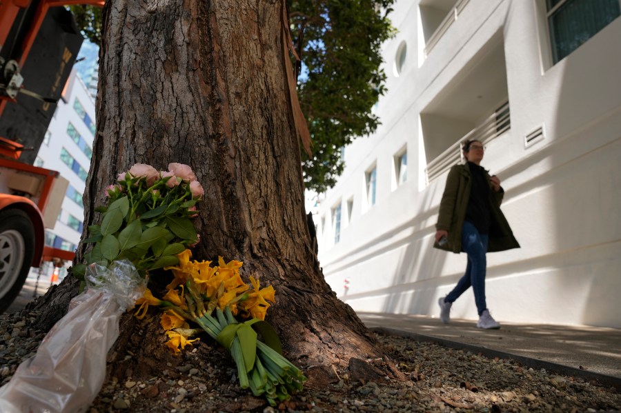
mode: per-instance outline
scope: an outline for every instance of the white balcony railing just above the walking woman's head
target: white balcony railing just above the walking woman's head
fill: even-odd
[[[507,102],[487,117],[480,125],[449,146],[433,161],[427,163],[427,183],[433,181],[446,172],[446,170],[449,170],[451,166],[462,160],[464,156],[461,148],[462,142],[474,139],[486,145],[509,129],[511,129],[511,113],[509,112],[509,102]]]

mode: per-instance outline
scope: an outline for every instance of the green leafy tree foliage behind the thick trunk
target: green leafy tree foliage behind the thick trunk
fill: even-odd
[[[384,93],[382,43],[394,30],[394,0],[290,0],[290,30],[297,64],[299,101],[313,142],[302,150],[306,188],[324,192],[342,173],[341,148],[375,132],[373,105]],[[83,34],[101,42],[101,10],[71,6]]]

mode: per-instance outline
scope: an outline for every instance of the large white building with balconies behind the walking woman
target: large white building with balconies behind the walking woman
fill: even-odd
[[[345,150],[315,216],[319,261],[357,311],[437,316],[465,254],[435,250],[466,137],[502,180],[522,248],[488,254],[498,321],[621,328],[620,0],[400,0],[382,125]],[[451,316],[477,318],[471,290]]]

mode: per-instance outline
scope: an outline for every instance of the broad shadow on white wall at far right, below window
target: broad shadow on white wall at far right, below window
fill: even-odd
[[[617,328],[621,328],[621,95],[609,80],[618,80],[621,57],[601,50],[607,45],[618,48],[620,32],[618,17],[555,68],[562,73],[553,128],[556,139],[572,152],[570,159],[555,162],[562,179],[553,187],[557,213],[551,220],[558,251],[567,256],[587,251],[584,261],[558,276],[559,296],[568,289],[582,290],[582,323]]]

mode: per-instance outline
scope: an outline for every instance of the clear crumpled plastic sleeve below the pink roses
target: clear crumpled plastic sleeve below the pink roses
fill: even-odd
[[[0,387],[0,412],[85,412],[101,390],[106,355],[119,336],[119,317],[142,296],[146,281],[128,261],[90,265],[88,288]]]

